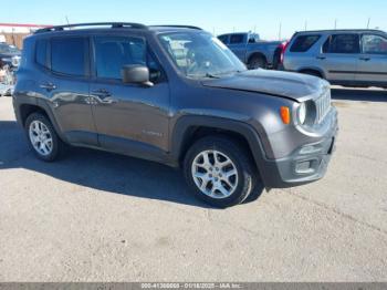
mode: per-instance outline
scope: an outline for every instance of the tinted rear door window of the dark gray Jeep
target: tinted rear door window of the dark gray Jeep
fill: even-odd
[[[85,38],[51,39],[51,70],[62,74],[85,75],[87,46]]]

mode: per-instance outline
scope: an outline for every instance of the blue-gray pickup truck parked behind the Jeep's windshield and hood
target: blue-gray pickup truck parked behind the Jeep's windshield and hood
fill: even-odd
[[[250,70],[275,66],[275,50],[282,43],[281,41],[260,40],[258,34],[251,32],[228,33],[219,35],[218,39]]]

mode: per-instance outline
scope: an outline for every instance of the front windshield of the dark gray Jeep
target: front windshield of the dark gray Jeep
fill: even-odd
[[[245,71],[244,64],[209,33],[174,32],[159,39],[177,68],[188,77],[219,77]]]

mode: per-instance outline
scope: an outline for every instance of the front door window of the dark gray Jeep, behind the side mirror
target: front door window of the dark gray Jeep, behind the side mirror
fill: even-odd
[[[139,38],[96,37],[96,75],[121,80],[121,70],[126,64],[147,64],[146,43]]]

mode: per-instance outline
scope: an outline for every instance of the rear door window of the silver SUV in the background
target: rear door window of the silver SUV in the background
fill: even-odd
[[[358,34],[334,34],[323,45],[324,53],[360,53]]]

